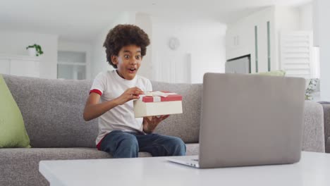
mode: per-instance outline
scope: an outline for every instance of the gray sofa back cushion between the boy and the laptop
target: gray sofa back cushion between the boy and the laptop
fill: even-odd
[[[152,89],[175,92],[183,97],[183,113],[169,116],[157,126],[155,132],[181,137],[185,143],[197,143],[200,134],[202,85],[152,81]]]

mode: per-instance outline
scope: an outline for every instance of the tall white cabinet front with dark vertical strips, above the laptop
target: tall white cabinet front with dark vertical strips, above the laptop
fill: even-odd
[[[276,42],[275,42],[275,7],[265,8],[262,11],[251,14],[236,23],[228,25],[226,32],[226,56],[227,59],[239,56],[251,55],[251,73],[255,73],[255,26],[257,26],[258,46],[258,72],[267,71],[267,22],[271,27],[271,69],[276,66]],[[238,44],[233,45],[233,38],[238,38]]]

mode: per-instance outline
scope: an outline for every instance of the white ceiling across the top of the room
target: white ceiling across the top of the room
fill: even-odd
[[[91,42],[122,11],[148,13],[169,20],[232,23],[273,5],[300,6],[312,0],[0,0],[0,30],[59,35]]]

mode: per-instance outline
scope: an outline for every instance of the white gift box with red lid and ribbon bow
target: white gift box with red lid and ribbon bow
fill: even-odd
[[[133,106],[135,118],[182,113],[182,96],[166,91],[147,92],[134,100]]]

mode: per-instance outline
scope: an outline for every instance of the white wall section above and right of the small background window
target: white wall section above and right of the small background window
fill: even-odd
[[[86,79],[91,79],[90,61],[92,59],[92,44],[82,42],[68,42],[59,39],[58,51],[80,51],[86,54]]]

